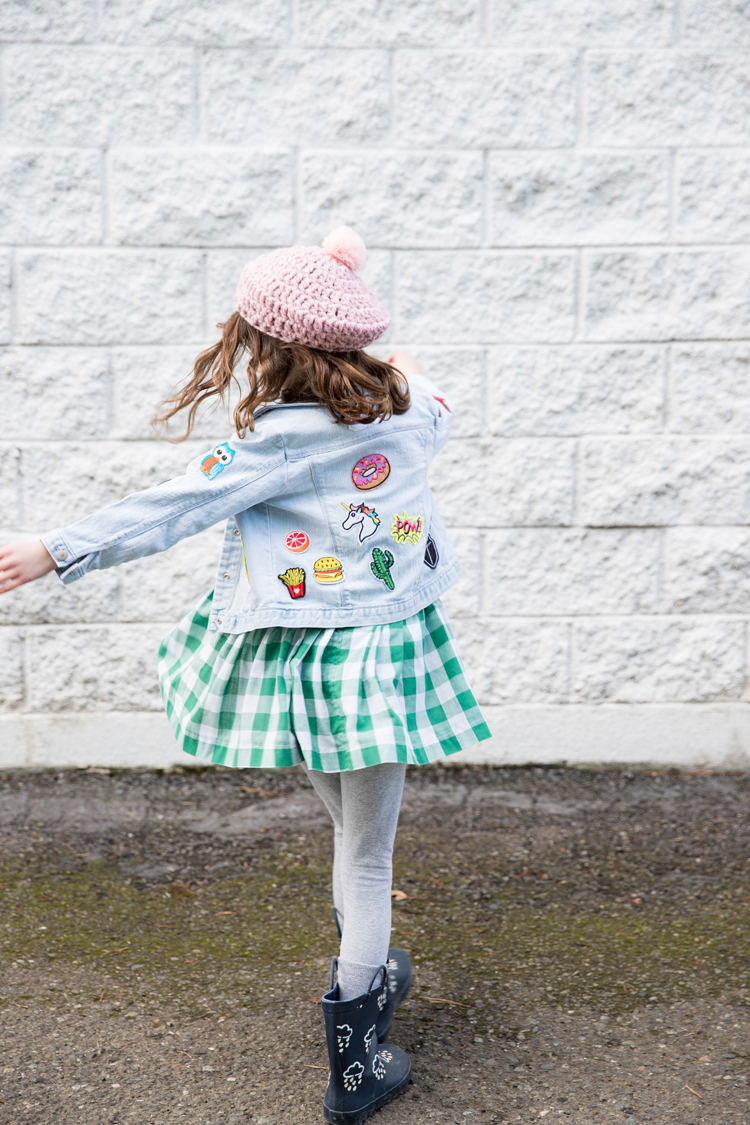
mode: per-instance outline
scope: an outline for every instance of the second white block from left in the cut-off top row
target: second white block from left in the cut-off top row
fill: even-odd
[[[103,0],[101,34],[118,44],[283,46],[291,36],[289,0]]]

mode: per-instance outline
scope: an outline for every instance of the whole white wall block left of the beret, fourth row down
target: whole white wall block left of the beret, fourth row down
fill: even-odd
[[[18,278],[22,343],[202,343],[197,251],[28,250]]]

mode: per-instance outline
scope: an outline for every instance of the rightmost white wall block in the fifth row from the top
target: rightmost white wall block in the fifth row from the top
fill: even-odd
[[[750,346],[676,344],[671,349],[670,429],[750,430]]]

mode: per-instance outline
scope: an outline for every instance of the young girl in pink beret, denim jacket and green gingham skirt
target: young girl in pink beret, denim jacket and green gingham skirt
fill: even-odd
[[[439,601],[460,568],[427,469],[451,407],[412,357],[362,351],[389,324],[354,272],[363,261],[343,227],[322,249],[251,262],[222,339],[159,418],[188,408],[187,436],[201,403],[240,385],[236,433],[182,477],[0,548],[7,593],[227,520],[215,590],[162,644],[162,694],[182,749],[242,768],[302,765],[331,813],[341,946],[322,1001],[324,1117],[342,1125],[409,1079],[405,1052],[382,1046],[413,973],[388,948],[406,765],[490,735]]]

